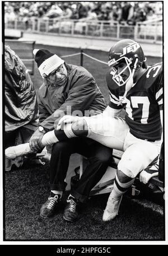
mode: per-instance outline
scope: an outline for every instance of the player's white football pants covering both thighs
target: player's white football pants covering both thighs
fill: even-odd
[[[83,118],[88,126],[88,138],[124,151],[118,169],[130,178],[135,178],[160,153],[161,141],[149,142],[134,137],[123,118],[103,115]]]

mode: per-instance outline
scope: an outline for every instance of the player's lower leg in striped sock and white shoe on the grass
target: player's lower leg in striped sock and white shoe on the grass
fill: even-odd
[[[103,221],[113,220],[117,215],[122,201],[123,194],[133,184],[134,179],[128,177],[122,171],[117,170],[114,180],[114,187],[110,193],[104,214]]]

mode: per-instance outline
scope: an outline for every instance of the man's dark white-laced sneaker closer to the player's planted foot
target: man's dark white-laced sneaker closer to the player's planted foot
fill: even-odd
[[[77,209],[77,200],[76,198],[69,195],[67,199],[67,205],[64,210],[64,216],[63,216],[64,220],[70,221],[70,222],[73,222],[74,220],[76,220],[78,216],[76,209]]]

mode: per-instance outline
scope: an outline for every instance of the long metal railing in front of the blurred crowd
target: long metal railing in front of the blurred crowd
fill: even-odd
[[[8,20],[5,29],[17,29],[36,33],[50,33],[71,36],[92,36],[94,38],[134,39],[162,43],[162,20],[137,22],[136,25],[97,20],[64,20],[59,18],[44,20],[31,18],[23,21],[16,18]]]

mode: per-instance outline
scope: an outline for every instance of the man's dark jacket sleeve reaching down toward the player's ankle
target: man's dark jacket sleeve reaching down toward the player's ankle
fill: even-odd
[[[51,131],[64,115],[82,115],[94,101],[96,90],[96,82],[89,72],[74,76],[66,101],[40,125]]]

